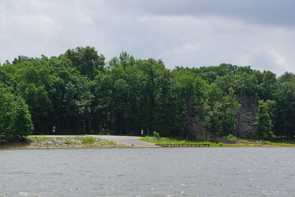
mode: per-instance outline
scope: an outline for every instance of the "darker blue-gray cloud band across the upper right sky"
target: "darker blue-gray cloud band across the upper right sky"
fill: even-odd
[[[250,23],[295,27],[294,0],[160,0],[113,1],[156,15],[222,16]]]

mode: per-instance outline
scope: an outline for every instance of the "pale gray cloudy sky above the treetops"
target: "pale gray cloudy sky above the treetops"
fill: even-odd
[[[109,61],[295,73],[295,0],[0,0],[0,62],[95,47]]]

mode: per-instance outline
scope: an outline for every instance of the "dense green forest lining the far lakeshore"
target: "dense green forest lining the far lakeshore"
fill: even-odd
[[[176,66],[94,47],[0,64],[0,138],[34,134],[294,138],[295,75],[250,66]]]

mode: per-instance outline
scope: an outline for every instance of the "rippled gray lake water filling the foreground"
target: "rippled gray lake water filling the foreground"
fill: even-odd
[[[0,197],[295,197],[295,148],[0,150]]]

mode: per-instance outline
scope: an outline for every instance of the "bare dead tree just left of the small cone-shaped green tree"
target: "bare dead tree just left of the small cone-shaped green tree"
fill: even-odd
[[[248,138],[254,132],[255,116],[258,109],[255,102],[249,102],[245,95],[238,98],[241,105],[236,111],[236,138]]]

